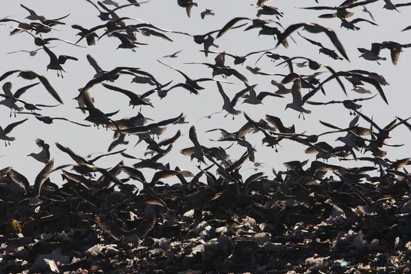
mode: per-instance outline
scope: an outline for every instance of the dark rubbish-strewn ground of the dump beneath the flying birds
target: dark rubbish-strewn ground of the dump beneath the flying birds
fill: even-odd
[[[203,179],[205,179],[203,176]],[[59,195],[68,195],[63,186]],[[409,273],[410,186],[200,182],[78,189],[1,225],[3,273]],[[345,191],[340,191],[345,189]],[[408,193],[406,195],[405,193]],[[3,199],[6,197],[3,197]],[[370,201],[373,202],[370,202]],[[19,221],[16,221],[18,219]]]

